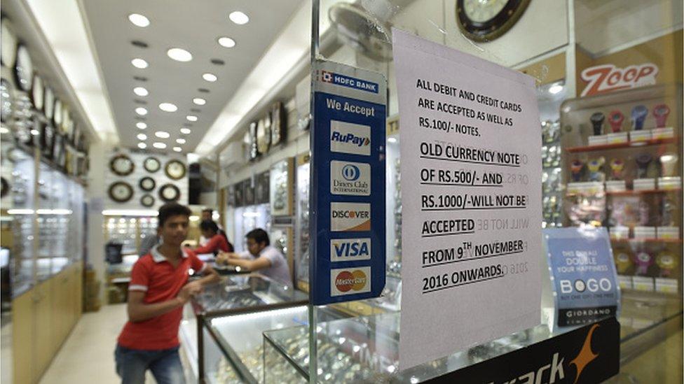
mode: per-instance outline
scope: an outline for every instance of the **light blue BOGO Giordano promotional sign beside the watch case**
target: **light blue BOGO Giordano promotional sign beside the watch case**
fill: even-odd
[[[584,325],[620,311],[620,287],[606,228],[545,229],[556,324]]]

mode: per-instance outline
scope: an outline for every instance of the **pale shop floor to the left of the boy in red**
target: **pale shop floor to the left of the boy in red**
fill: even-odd
[[[125,322],[125,304],[102,306],[98,312],[84,313],[41,383],[119,383],[114,371],[114,346]]]

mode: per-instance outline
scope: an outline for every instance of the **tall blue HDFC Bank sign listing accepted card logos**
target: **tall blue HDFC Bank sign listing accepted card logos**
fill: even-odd
[[[315,63],[311,129],[311,304],[385,287],[385,108],[380,73]]]

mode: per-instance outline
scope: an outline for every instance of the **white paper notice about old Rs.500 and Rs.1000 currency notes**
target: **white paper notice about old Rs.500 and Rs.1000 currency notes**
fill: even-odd
[[[542,135],[533,78],[392,36],[406,369],[540,323]]]

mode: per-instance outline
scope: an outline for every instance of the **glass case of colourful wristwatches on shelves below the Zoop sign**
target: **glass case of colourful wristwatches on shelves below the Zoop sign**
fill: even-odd
[[[622,290],[682,292],[681,90],[641,87],[561,108],[564,225],[608,227]]]

